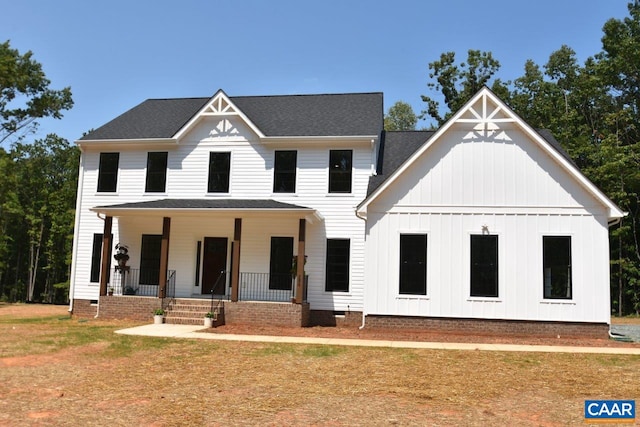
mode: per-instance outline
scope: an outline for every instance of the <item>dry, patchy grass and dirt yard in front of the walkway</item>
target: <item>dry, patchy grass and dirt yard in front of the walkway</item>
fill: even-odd
[[[562,426],[584,425],[585,399],[640,399],[638,356],[113,333],[132,325],[69,319],[66,307],[0,304],[0,426]]]

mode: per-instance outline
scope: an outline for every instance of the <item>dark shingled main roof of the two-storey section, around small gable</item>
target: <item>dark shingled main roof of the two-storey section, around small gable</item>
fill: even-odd
[[[80,140],[173,137],[211,98],[150,99]],[[266,136],[379,135],[382,93],[229,98]]]

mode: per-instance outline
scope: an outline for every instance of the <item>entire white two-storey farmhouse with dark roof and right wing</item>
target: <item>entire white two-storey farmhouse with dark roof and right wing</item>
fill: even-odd
[[[219,91],[89,133],[72,312],[606,334],[624,213],[552,135],[488,89],[437,131],[382,126],[381,93]]]

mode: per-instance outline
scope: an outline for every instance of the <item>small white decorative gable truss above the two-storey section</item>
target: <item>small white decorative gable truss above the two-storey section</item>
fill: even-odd
[[[193,127],[202,119],[207,117],[217,118],[218,121],[215,126],[209,132],[209,136],[233,136],[238,135],[240,132],[235,127],[231,118],[239,117],[244,123],[258,135],[259,138],[264,138],[265,135],[262,131],[229,99],[227,94],[223,90],[218,90],[211,100],[205,104],[205,106],[195,114],[187,124],[185,124],[174,138],[180,140],[182,136],[187,134]]]

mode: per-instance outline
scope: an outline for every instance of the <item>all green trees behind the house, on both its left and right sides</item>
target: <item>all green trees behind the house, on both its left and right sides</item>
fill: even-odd
[[[499,78],[491,52],[429,64],[429,95],[416,115],[398,102],[385,129],[441,125],[490,87],[526,122],[549,129],[582,172],[628,212],[610,229],[612,310],[640,313],[640,4],[603,27],[602,50],[579,63],[569,46],[521,77]],[[0,299],[62,302],[68,295],[79,150],[57,135],[25,142],[41,117],[73,106],[70,88],[49,88],[32,53],[0,44]],[[9,144],[5,150],[3,144]]]

